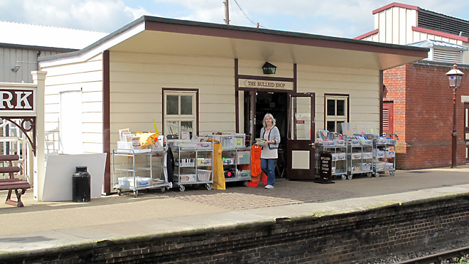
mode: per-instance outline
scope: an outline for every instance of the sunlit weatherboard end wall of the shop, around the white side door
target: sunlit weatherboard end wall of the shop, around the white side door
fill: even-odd
[[[102,153],[102,54],[81,63],[42,68],[45,78],[45,152],[63,153],[60,142],[60,93],[82,91],[84,153]],[[80,129],[80,128],[77,128]]]

